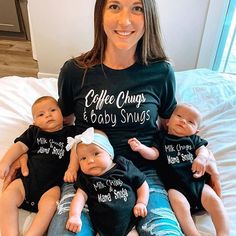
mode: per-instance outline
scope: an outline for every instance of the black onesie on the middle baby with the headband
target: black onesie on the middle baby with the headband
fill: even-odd
[[[146,178],[124,157],[116,156],[115,162],[101,176],[80,173],[75,184],[88,195],[90,218],[100,236],[125,236],[133,228],[136,192]]]

